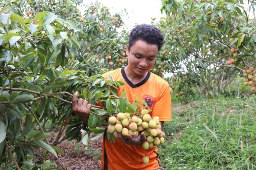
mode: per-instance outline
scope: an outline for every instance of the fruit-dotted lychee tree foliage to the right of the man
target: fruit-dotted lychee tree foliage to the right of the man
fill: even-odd
[[[247,10],[254,12],[256,3],[248,2],[246,10],[246,2],[162,0],[166,18],[158,26],[165,35],[164,72],[182,81],[177,85],[171,82],[175,93],[183,88],[193,94],[196,89],[213,97],[224,92],[237,76],[243,77],[243,70],[255,67],[256,19],[249,17]],[[235,62],[227,64],[231,59]],[[249,75],[254,77],[250,72],[247,80]]]

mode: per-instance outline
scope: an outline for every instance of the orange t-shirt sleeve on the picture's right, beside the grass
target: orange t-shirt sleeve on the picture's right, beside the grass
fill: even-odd
[[[152,110],[151,116],[159,116],[160,121],[172,121],[171,91],[168,83],[162,86],[159,98]]]

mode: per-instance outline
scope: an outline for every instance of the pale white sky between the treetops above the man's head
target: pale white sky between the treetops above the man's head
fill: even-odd
[[[84,4],[90,4],[95,0],[84,0]],[[110,14],[122,13],[125,8],[128,15],[123,16],[123,22],[127,28],[133,28],[136,24],[151,24],[151,17],[159,21],[162,7],[161,0],[98,0],[101,5],[110,9]],[[124,13],[123,13],[124,14]]]

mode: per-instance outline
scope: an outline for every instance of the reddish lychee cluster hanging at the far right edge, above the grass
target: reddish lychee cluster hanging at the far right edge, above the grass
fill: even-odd
[[[256,82],[256,78],[254,77],[254,75],[256,74],[255,70],[253,69],[253,67],[250,67],[247,70],[243,70],[243,77],[245,79],[243,79],[244,85],[251,85],[251,91],[255,91],[256,87],[255,87],[255,82]]]

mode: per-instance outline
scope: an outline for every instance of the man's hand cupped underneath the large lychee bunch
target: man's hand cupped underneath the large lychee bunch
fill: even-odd
[[[123,143],[129,144],[129,145],[137,145],[137,146],[142,145],[142,143],[147,140],[144,132],[142,132],[136,138],[133,138],[131,135],[128,134],[127,139],[125,139],[121,133],[118,133],[118,137],[119,137],[120,141]]]

